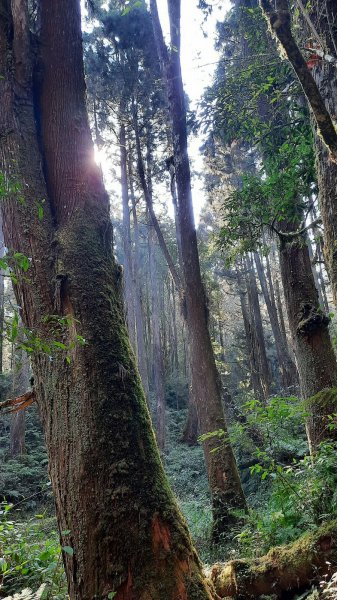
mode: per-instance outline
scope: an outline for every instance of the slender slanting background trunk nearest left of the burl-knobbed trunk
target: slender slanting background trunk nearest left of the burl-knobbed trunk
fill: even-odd
[[[264,300],[267,306],[269,320],[274,335],[275,347],[279,368],[281,371],[282,383],[285,390],[294,391],[297,382],[296,366],[289,355],[287,346],[284,345],[284,338],[280,330],[275,303],[272,302],[269,295],[264,267],[261,263],[260,256],[257,252],[254,254],[256,269],[261,284]]]

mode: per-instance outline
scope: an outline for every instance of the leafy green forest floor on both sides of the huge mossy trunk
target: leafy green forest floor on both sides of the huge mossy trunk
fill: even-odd
[[[232,531],[230,540],[227,539],[222,544],[215,546],[212,543],[212,513],[203,451],[200,444],[189,447],[181,442],[185,419],[186,409],[175,410],[172,407],[168,409],[169,427],[163,462],[206,572],[211,573],[215,563],[227,561],[231,561],[232,565],[237,565],[241,564],[241,559],[246,559],[255,561],[254,564],[257,564],[256,561],[259,561],[260,557],[266,554],[271,547],[292,543],[303,532],[317,529],[311,514],[314,507],[303,506],[303,498],[297,497],[302,494],[301,486],[290,493],[289,486],[295,485],[298,473],[289,471],[286,474],[282,471],[281,479],[275,482],[277,478],[274,477],[270,466],[268,466],[268,476],[264,476],[264,473],[267,472],[266,467],[262,471],[258,468],[246,467],[241,468],[240,474],[250,513],[244,526],[238,526],[237,530]],[[59,546],[50,486],[45,485],[47,480],[46,457],[33,416],[28,419],[27,440],[28,444],[35,444],[34,449],[28,447],[28,452],[22,459],[16,459],[14,462],[12,459],[5,463],[7,464],[6,468],[12,474],[12,487],[8,487],[9,479],[6,480],[5,473],[2,474],[2,481],[0,477],[0,484],[7,485],[7,494],[10,495],[10,501],[14,504],[14,507],[11,508],[10,502],[4,503],[0,515],[0,547],[3,555],[0,568],[4,574],[4,585],[0,590],[0,598],[10,597],[10,594],[27,587],[36,591],[41,584],[46,584],[42,598],[66,600],[61,552],[71,553],[72,548],[65,547],[61,550]],[[242,463],[245,458],[242,448],[238,445],[237,453],[241,453],[240,464],[240,460]],[[331,473],[327,475],[329,469],[335,471],[333,466],[328,464],[327,456],[322,460],[322,465],[324,473],[316,473],[316,480],[314,482],[312,479],[310,480],[311,485],[316,488],[321,485],[323,477],[325,477],[326,486],[335,483],[334,480],[332,481]],[[302,487],[305,493],[307,493],[308,486],[306,468],[305,464],[300,463],[299,472],[303,478]],[[312,473],[310,476],[313,477]],[[283,481],[283,484],[282,477],[288,478],[285,482]],[[42,482],[44,483],[39,488]],[[13,489],[15,487],[16,491]],[[40,491],[36,492],[36,487]],[[318,490],[316,492],[318,493]],[[15,494],[20,498],[18,502],[15,502]],[[26,497],[24,502],[22,502],[22,496]],[[296,501],[298,501],[297,504]],[[329,507],[326,507],[326,511],[329,515],[333,512]],[[335,515],[332,514],[332,518],[336,518]],[[288,565],[287,570],[289,568]],[[22,598],[28,597],[23,596]],[[263,597],[264,599],[276,598],[273,595]],[[33,598],[38,598],[38,596],[35,595]],[[298,595],[291,595],[289,592],[284,595],[284,598],[336,599],[336,577],[332,578],[329,584],[322,578],[321,585],[315,584],[312,587],[309,585],[309,589],[302,590]]]

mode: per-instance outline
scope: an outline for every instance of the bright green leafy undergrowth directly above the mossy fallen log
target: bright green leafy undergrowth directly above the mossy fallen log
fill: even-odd
[[[254,555],[336,518],[337,443],[321,443],[314,458],[307,454],[305,410],[295,397],[273,398],[267,406],[253,400],[246,410],[248,423],[258,425],[266,440],[250,468],[263,483],[263,499],[255,501],[238,536],[244,552]]]

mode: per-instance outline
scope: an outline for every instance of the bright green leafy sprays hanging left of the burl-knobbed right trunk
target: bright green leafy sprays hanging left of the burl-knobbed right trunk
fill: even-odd
[[[265,229],[282,230],[285,221],[293,231],[300,226],[314,191],[314,153],[307,126],[291,135],[291,143],[285,141],[265,158],[259,174],[243,175],[242,185],[227,195],[218,246],[228,262],[261,246]]]

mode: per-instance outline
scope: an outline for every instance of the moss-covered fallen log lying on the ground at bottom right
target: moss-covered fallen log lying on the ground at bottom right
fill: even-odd
[[[337,521],[333,521],[261,558],[214,565],[210,579],[219,598],[291,598],[322,577],[331,577],[336,568]]]

